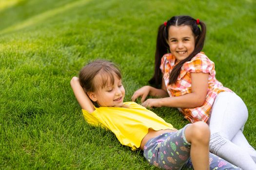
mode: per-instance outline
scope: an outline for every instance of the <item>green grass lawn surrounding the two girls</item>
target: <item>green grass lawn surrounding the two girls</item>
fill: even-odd
[[[120,66],[125,101],[153,75],[158,25],[174,15],[207,24],[217,79],[246,103],[256,147],[254,0],[0,0],[0,169],[155,169],[141,152],[88,125],[70,88],[96,58]],[[174,108],[154,111],[175,127]]]

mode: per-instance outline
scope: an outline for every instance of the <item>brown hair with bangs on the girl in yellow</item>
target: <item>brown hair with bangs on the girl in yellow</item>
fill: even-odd
[[[95,60],[80,70],[79,82],[85,92],[95,92],[98,88],[105,87],[109,83],[108,79],[114,85],[115,75],[121,79],[117,65],[108,60]]]

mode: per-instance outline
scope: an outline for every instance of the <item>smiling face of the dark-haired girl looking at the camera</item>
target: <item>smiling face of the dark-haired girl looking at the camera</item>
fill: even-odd
[[[177,62],[187,58],[195,49],[195,35],[187,25],[170,26],[168,44]]]

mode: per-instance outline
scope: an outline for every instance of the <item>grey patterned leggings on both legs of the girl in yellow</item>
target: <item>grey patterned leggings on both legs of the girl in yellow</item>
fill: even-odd
[[[188,124],[189,125],[189,124]],[[177,132],[164,133],[150,139],[144,146],[144,157],[156,167],[166,170],[193,170],[190,159],[191,144],[185,138],[185,128]],[[240,170],[236,166],[210,154],[210,170]]]

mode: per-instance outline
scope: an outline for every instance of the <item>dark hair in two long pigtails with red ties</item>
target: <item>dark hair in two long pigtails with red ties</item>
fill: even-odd
[[[170,79],[169,79],[169,85],[174,84],[177,81],[177,77],[180,73],[180,69],[182,65],[190,61],[197,53],[199,53],[203,49],[204,45],[204,39],[206,35],[206,25],[199,21],[200,28],[197,26],[197,20],[190,16],[174,16],[171,17],[167,21],[167,25],[161,24],[158,28],[158,36],[157,36],[157,47],[156,47],[156,53],[155,53],[155,73],[154,76],[149,80],[149,83],[151,85],[156,85],[159,87],[161,85],[161,70],[160,70],[160,64],[161,64],[161,58],[164,54],[169,52],[169,45],[167,43],[168,41],[168,32],[170,26],[190,26],[193,34],[196,37],[195,41],[195,49],[194,51],[184,60],[180,61],[171,71]]]

